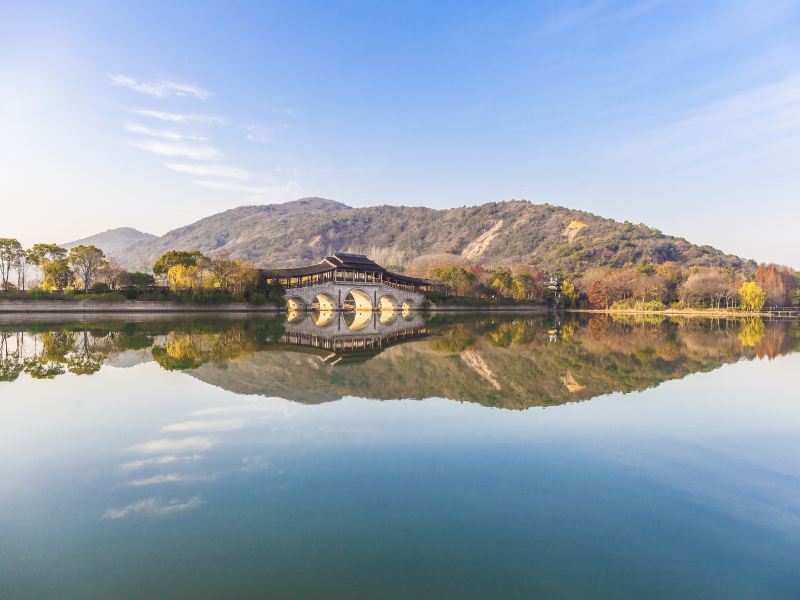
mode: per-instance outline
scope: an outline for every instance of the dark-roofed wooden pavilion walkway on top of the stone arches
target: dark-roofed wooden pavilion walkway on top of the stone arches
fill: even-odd
[[[426,294],[435,288],[426,279],[387,271],[364,254],[345,252],[337,252],[315,265],[262,269],[261,274],[267,284],[280,284],[286,289],[326,283],[377,283],[407,292]]]

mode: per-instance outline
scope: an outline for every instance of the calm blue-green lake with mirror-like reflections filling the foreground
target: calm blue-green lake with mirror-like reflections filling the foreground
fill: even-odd
[[[798,322],[69,319],[0,325],[4,599],[800,597]]]

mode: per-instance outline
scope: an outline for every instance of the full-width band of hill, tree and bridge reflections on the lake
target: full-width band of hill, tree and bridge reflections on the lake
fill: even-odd
[[[503,408],[641,390],[740,359],[786,354],[800,340],[796,323],[605,316],[559,324],[543,317],[376,314],[357,331],[344,319],[311,315],[36,329],[0,331],[0,381],[155,360],[226,390],[298,402],[444,397]]]

